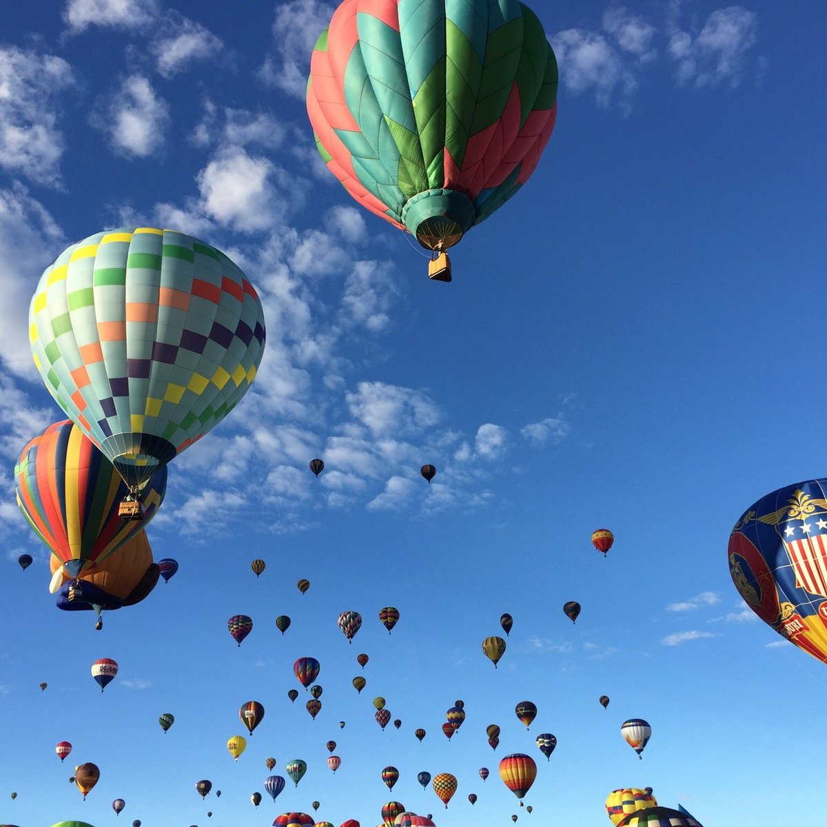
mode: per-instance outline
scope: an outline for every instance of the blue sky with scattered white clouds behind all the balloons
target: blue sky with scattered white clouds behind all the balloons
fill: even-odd
[[[599,825],[620,786],[652,786],[707,827],[822,818],[805,747],[827,726],[824,667],[748,611],[726,544],[760,496],[824,474],[825,8],[533,7],[560,63],[557,127],[528,184],[452,254],[447,285],[318,159],[304,84],[331,5],[4,9],[3,822],[98,827],[122,797],[127,824],[163,827],[266,825],[313,800],[319,820],[364,827],[391,799],[438,827],[512,813]],[[147,225],[237,261],[261,294],[267,350],[243,404],[170,467],[149,535],[178,575],[98,633],[55,608],[47,552],[14,500],[17,454],[63,418],[26,313],[69,243]],[[589,540],[603,526],[606,559]],[[22,552],[36,558],[25,572]],[[583,606],[576,626],[566,600]],[[402,615],[390,636],[385,605]],[[352,645],[336,625],[346,609],[364,619]],[[494,670],[480,643],[504,611],[514,630]],[[254,621],[241,648],[226,626],[238,613]],[[278,614],[293,619],[284,637]],[[304,655],[322,663],[315,720],[292,674]],[[121,665],[103,695],[99,657]],[[380,731],[376,695],[399,730]],[[448,742],[457,698],[467,717]],[[247,700],[265,719],[234,763],[225,744]],[[520,700],[538,705],[529,733]],[[643,761],[619,734],[632,717],[653,726]],[[557,735],[549,762],[541,732]],[[538,762],[531,815],[496,772],[511,752]],[[276,773],[291,758],[308,772],[256,810],[268,756]],[[86,761],[101,780],[82,803],[67,778]],[[447,811],[421,770],[457,776]],[[222,797],[202,802],[201,778]]]

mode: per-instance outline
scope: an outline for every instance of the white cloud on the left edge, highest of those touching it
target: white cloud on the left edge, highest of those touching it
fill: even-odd
[[[0,166],[37,184],[60,185],[63,133],[55,98],[74,86],[65,60],[0,48]]]

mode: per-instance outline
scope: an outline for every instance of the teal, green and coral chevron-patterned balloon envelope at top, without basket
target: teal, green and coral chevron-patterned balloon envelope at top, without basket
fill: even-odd
[[[313,50],[307,106],[347,192],[435,250],[525,183],[556,95],[552,47],[517,0],[344,0]]]

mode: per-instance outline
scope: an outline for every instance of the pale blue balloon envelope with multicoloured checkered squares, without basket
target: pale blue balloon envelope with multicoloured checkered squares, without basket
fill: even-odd
[[[221,251],[139,227],[61,253],[31,300],[29,336],[50,394],[141,485],[246,393],[265,326],[256,290]]]

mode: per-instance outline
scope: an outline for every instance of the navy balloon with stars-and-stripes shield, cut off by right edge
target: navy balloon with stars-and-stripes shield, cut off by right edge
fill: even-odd
[[[827,479],[753,504],[729,535],[729,574],[764,623],[827,663]]]

